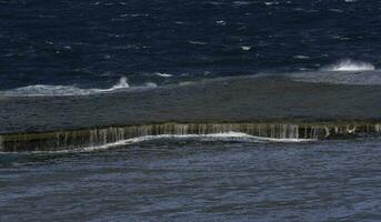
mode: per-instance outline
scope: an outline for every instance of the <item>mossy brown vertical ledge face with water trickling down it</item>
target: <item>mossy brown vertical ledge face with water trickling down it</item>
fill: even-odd
[[[47,133],[0,135],[0,151],[58,151],[106,145],[127,139],[161,134],[212,134],[242,132],[249,135],[281,140],[321,140],[381,132],[381,124],[371,123],[162,123],[110,127]]]

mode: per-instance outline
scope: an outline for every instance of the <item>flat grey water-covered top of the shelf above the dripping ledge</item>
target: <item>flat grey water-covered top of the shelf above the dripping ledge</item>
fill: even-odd
[[[379,85],[237,77],[89,97],[1,97],[0,134],[166,122],[381,122]]]

